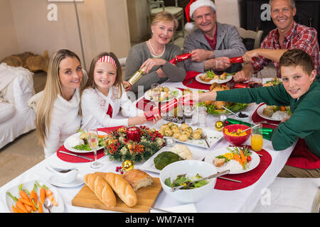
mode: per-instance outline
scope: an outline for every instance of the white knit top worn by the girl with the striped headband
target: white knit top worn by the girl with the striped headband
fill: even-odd
[[[82,129],[128,126],[129,118],[143,113],[143,111],[137,109],[136,106],[132,104],[127,93],[124,92],[123,87],[122,96],[119,99],[114,97],[113,90],[114,87],[112,86],[109,89],[107,96],[99,92],[97,89],[89,88],[83,91],[81,96]],[[100,104],[101,101],[105,105]],[[112,118],[107,114],[109,104],[112,106]],[[122,114],[127,118],[114,118],[119,114],[120,107],[122,108]]]

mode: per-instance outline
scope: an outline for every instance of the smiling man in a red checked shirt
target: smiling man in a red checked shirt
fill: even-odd
[[[262,41],[260,48],[250,50],[242,56],[249,64],[237,72],[235,82],[244,82],[250,79],[255,71],[260,71],[270,60],[277,70],[279,77],[279,59],[289,49],[301,49],[311,55],[317,74],[320,74],[319,43],[316,29],[303,26],[294,21],[296,7],[294,0],[270,0],[272,21],[277,28]],[[252,57],[258,57],[252,61]],[[250,64],[251,63],[251,64]]]

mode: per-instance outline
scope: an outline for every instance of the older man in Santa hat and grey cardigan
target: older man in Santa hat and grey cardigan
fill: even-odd
[[[193,18],[195,31],[186,36],[183,52],[191,52],[191,60],[185,61],[187,71],[204,72],[213,68],[216,60],[223,62],[227,72],[238,72],[242,65],[230,64],[229,57],[245,54],[245,45],[235,26],[218,23],[215,5],[210,0],[191,1],[186,6],[186,18]],[[192,30],[186,24],[186,30]],[[191,26],[191,27],[190,27]]]

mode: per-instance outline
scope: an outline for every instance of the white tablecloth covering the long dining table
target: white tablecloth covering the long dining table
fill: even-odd
[[[168,87],[182,87],[186,88],[181,84],[181,82],[169,83],[165,82],[161,84],[162,86]],[[250,104],[246,111],[253,114],[255,109],[257,109],[257,104]],[[119,116],[122,117],[122,116]],[[230,116],[231,117],[231,116]],[[218,118],[215,116],[208,116],[207,118],[207,126],[211,129],[214,129],[215,121]],[[163,120],[161,120],[163,121]],[[159,121],[157,125],[161,125],[163,122]],[[151,124],[148,124],[151,128],[154,128]],[[221,132],[222,133],[222,132]],[[213,189],[212,193],[209,194],[206,199],[199,201],[194,204],[196,206],[196,211],[198,212],[251,212],[255,208],[258,202],[262,202],[264,196],[266,196],[267,187],[274,181],[277,177],[277,174],[282,170],[282,167],[287,162],[287,158],[292,153],[294,145],[287,148],[286,150],[275,151],[272,148],[272,144],[269,140],[263,140],[263,149],[265,149],[268,153],[270,153],[272,157],[272,162],[267,170],[265,170],[264,174],[257,180],[254,184],[249,187],[245,187],[244,189],[234,190],[234,191],[224,191]],[[250,145],[250,139],[245,143]],[[205,148],[197,148],[195,146],[192,147],[192,150],[199,153],[210,153],[215,149],[227,147],[229,143],[226,140],[220,140],[213,148],[205,149]],[[8,182],[0,189],[0,212],[8,212],[8,208],[6,205],[6,190],[14,187],[15,185],[21,184],[23,182],[28,182],[33,179],[40,179],[46,181],[51,175],[52,172],[46,169],[46,165],[50,164],[55,167],[78,167],[80,170],[80,175],[85,175],[89,172],[114,172],[117,166],[121,166],[120,162],[110,162],[108,157],[105,157],[101,160],[103,163],[103,167],[98,170],[93,170],[90,168],[90,162],[85,163],[70,163],[64,162],[57,157],[56,154],[48,157],[46,160],[38,163],[31,169],[23,172],[20,176]],[[140,165],[136,165],[139,168]],[[148,172],[152,177],[159,177],[159,174],[154,172]],[[73,197],[79,192],[82,186],[79,187],[71,187],[71,188],[62,188],[55,187],[59,194],[63,198],[63,202],[65,204],[65,212],[112,212],[105,211],[101,209],[89,209],[78,206],[72,206],[71,201]],[[165,192],[161,192],[156,199],[155,207],[159,209],[166,209],[171,206],[179,206],[182,205],[178,201],[171,199],[169,196],[166,196]]]

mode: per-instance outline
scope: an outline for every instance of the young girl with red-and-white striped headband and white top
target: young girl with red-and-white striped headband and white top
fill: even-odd
[[[120,107],[127,118],[115,118]],[[102,52],[92,60],[87,84],[81,92],[81,109],[83,129],[146,123],[143,111],[132,104],[124,91],[121,66],[112,52]]]

